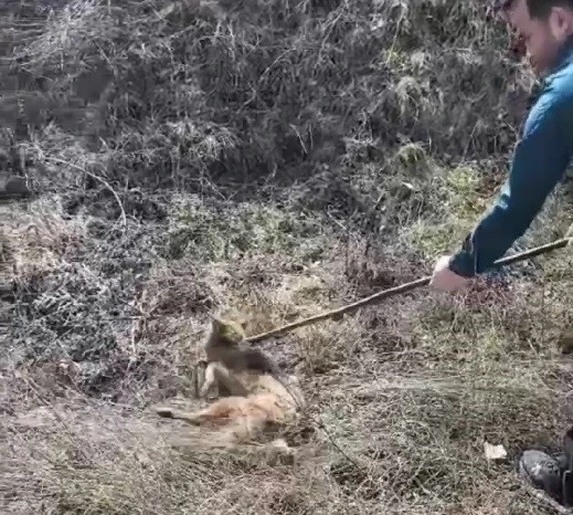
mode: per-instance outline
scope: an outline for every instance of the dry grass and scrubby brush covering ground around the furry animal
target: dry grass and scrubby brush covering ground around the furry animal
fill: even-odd
[[[210,313],[257,333],[459,245],[534,85],[503,28],[429,0],[3,9],[1,86],[29,91],[3,145],[41,193],[0,207],[3,513],[545,513],[513,460],[571,419],[569,251],[261,344],[309,399],[291,462],[173,445],[153,413]],[[560,190],[520,245],[571,211]]]

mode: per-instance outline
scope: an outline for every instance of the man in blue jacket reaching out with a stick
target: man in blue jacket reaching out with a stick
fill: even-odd
[[[454,255],[437,260],[431,286],[465,288],[492,267],[530,227],[564,177],[573,156],[573,0],[497,0],[505,20],[522,38],[543,84],[526,120],[509,178],[496,204]],[[573,433],[565,435],[565,451]],[[553,498],[573,505],[569,453],[550,456],[526,451],[520,472]],[[573,472],[571,473],[573,474]]]

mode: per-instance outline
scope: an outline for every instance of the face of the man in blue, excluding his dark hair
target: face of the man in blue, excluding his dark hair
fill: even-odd
[[[539,20],[530,17],[527,0],[516,0],[505,14],[521,39],[533,71],[540,75],[548,72],[573,32],[573,10],[554,7],[547,20]]]

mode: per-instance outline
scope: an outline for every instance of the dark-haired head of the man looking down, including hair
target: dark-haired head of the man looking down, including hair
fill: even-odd
[[[535,73],[549,71],[573,35],[573,0],[497,0],[497,9],[517,32]]]

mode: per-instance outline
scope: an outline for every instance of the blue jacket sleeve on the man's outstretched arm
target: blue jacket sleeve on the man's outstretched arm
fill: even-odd
[[[531,108],[497,202],[467,237],[449,269],[471,277],[494,266],[541,211],[573,156],[573,40],[561,51]]]

